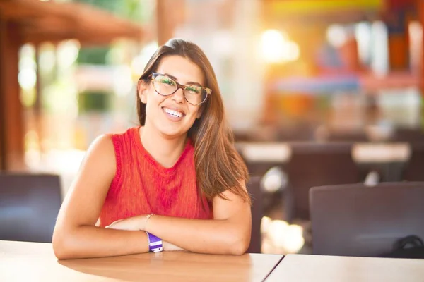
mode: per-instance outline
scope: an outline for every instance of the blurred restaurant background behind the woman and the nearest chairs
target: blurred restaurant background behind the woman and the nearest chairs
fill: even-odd
[[[310,187],[424,180],[423,22],[420,0],[0,1],[0,170],[58,174],[63,198],[95,137],[137,125],[155,49],[189,39],[252,176],[257,250],[308,253]]]

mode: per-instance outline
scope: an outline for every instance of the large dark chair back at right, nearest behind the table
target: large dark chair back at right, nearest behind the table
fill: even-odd
[[[377,257],[408,235],[424,238],[424,183],[314,187],[314,255]]]

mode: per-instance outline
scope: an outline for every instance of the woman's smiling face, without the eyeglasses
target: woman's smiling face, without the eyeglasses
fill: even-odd
[[[180,85],[204,86],[201,68],[182,56],[166,56],[160,61],[155,73],[167,75]],[[163,96],[155,91],[152,82],[147,85],[139,83],[139,95],[141,102],[146,104],[145,126],[153,127],[167,137],[186,135],[201,115],[201,105],[189,104],[181,88],[174,94]]]

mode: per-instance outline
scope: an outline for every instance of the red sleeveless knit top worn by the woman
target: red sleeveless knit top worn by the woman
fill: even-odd
[[[139,128],[110,137],[117,171],[100,212],[100,226],[151,213],[211,219],[208,202],[197,189],[194,147],[190,140],[175,165],[165,168],[143,147]]]

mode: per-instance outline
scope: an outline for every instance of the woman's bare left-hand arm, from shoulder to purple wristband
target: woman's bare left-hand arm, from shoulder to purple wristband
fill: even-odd
[[[93,142],[61,206],[53,233],[59,259],[107,257],[148,252],[143,231],[96,227],[116,171],[114,147],[108,136]]]

